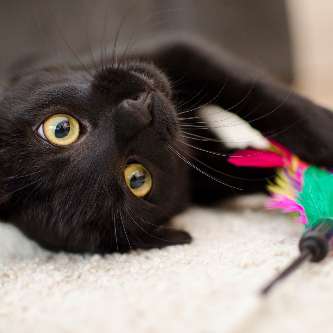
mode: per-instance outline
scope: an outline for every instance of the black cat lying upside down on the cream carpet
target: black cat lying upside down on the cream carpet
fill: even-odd
[[[274,172],[226,161],[230,150],[196,110],[208,103],[304,161],[333,166],[329,110],[219,49],[176,40],[99,68],[41,68],[8,82],[0,100],[1,220],[53,250],[189,242],[169,227],[173,215],[191,201],[264,190]]]

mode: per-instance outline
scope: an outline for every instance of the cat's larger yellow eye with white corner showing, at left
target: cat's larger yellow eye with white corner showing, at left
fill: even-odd
[[[65,114],[53,115],[38,129],[39,135],[53,144],[65,146],[75,142],[80,134],[76,119]]]

